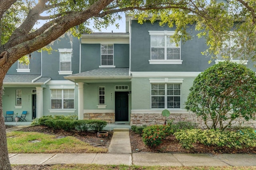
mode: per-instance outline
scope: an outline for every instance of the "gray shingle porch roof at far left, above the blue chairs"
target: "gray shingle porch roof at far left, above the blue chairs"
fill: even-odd
[[[36,78],[38,78],[40,75],[5,75],[4,77],[4,84],[9,83],[23,83],[23,84],[45,84],[47,83],[51,78],[50,77],[41,77],[37,79],[36,81],[32,82]]]

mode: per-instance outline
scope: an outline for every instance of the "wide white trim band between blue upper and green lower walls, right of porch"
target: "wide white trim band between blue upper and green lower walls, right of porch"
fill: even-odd
[[[132,71],[132,77],[197,77],[202,72]]]

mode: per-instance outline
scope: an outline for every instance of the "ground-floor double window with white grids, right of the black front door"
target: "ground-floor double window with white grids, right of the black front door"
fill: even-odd
[[[180,108],[180,83],[152,83],[151,108]]]

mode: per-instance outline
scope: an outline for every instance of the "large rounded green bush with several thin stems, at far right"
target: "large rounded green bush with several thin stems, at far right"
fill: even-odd
[[[254,71],[242,64],[219,62],[196,77],[186,109],[201,117],[207,128],[222,130],[238,117],[255,118],[255,97]]]

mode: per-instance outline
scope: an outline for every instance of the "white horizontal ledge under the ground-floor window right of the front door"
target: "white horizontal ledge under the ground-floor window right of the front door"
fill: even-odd
[[[161,109],[134,109],[134,110],[131,110],[131,113],[132,114],[145,114],[145,113],[148,113],[148,114],[154,114],[154,113],[158,113],[158,114],[162,114],[162,111],[164,109],[161,108]],[[186,109],[168,109],[168,111],[170,111],[171,114],[173,113],[190,113],[188,112]]]

